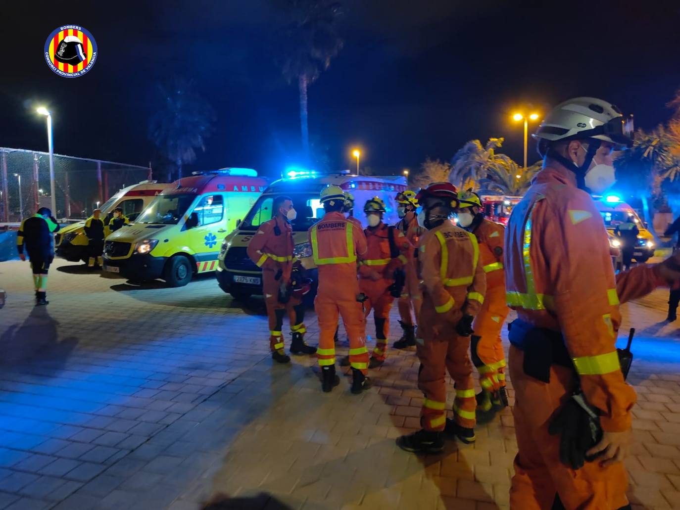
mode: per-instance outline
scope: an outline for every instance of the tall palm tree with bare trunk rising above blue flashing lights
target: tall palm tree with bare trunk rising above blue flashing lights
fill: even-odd
[[[282,37],[285,52],[282,73],[288,83],[298,84],[302,148],[309,162],[307,89],[343,47],[337,33],[341,5],[328,0],[288,0],[288,14],[292,21]]]

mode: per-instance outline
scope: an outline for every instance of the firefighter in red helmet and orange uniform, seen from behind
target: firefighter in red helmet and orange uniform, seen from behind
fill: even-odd
[[[407,452],[437,453],[444,447],[444,431],[464,443],[475,441],[475,383],[468,351],[486,278],[477,239],[449,220],[456,207],[453,184],[430,184],[418,202],[418,223],[428,229],[418,248],[423,305],[416,352],[418,388],[425,395],[423,428],[396,443]],[[456,388],[454,420],[446,418],[446,370]]]

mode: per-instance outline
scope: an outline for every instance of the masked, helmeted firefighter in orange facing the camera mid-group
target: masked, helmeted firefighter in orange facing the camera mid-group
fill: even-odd
[[[379,367],[385,362],[387,339],[390,334],[390,310],[394,302],[394,292],[405,283],[403,267],[408,262],[413,246],[408,239],[393,226],[382,222],[386,213],[385,203],[378,197],[364,205],[369,228],[364,231],[368,250],[359,261],[359,290],[366,296],[364,313],[368,317],[373,309],[375,322],[375,349],[371,354],[369,369]],[[401,271],[401,275],[397,273]]]

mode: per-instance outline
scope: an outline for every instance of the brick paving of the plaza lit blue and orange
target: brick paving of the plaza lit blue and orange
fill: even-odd
[[[367,393],[343,377],[322,394],[312,358],[272,365],[261,302],[243,309],[211,277],[140,288],[58,261],[39,308],[30,285],[27,264],[0,264],[0,509],[193,510],[216,497],[229,508],[507,508],[509,410],[473,446],[419,458],[394,445],[419,426],[412,351],[390,351]],[[626,462],[636,509],[680,507],[680,330],[662,322],[666,295],[623,307],[622,330],[638,330]],[[313,313],[307,324],[316,343]]]

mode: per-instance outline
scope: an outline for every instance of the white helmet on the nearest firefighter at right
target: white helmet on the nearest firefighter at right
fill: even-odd
[[[554,107],[532,136],[539,142],[592,138],[622,150],[632,146],[633,118],[602,99],[575,97]]]

